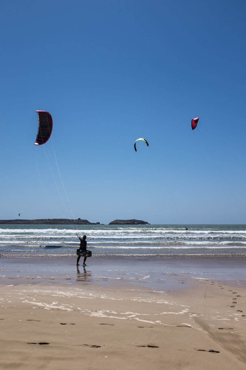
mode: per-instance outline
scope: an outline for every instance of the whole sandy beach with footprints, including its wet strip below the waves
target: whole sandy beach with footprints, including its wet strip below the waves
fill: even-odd
[[[110,261],[1,258],[1,369],[246,369],[243,259]]]

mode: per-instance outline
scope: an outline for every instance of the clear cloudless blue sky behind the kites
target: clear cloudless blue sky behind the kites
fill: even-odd
[[[54,145],[75,218],[246,223],[244,0],[2,0],[0,17],[0,219],[73,218]]]

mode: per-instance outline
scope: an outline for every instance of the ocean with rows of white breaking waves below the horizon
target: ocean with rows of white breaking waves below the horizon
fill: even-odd
[[[78,225],[78,230],[73,226],[1,224],[0,255],[75,256],[77,232],[87,236],[93,257],[246,257],[246,225]]]

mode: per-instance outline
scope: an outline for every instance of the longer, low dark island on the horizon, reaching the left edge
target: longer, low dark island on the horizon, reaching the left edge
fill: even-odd
[[[89,222],[88,220],[67,220],[65,218],[43,218],[38,220],[0,220],[0,224],[18,225],[100,225],[100,222]]]

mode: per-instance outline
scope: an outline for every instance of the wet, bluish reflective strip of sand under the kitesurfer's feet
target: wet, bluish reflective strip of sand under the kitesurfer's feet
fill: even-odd
[[[207,259],[87,259],[86,266],[75,266],[73,258],[3,258],[0,284],[23,283],[78,285],[135,284],[157,290],[179,289],[195,279],[214,279],[233,285],[246,285],[246,260],[243,258]],[[191,279],[192,278],[192,279]]]

